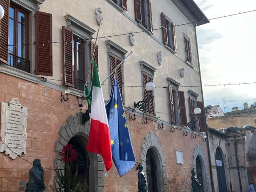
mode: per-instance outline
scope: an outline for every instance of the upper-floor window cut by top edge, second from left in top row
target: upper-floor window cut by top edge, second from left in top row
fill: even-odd
[[[150,0],[134,0],[135,20],[153,33],[152,11]]]

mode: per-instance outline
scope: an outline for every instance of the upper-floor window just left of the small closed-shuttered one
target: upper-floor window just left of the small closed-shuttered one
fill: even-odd
[[[162,12],[162,31],[163,31],[163,42],[175,52],[177,52],[177,44],[176,44],[176,35],[175,35],[175,26],[172,21],[166,17],[166,15]]]

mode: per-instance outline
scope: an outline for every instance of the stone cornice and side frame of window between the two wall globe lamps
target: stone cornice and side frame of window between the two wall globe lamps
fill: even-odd
[[[178,99],[178,89],[180,87],[180,83],[172,79],[171,77],[167,77],[167,82],[170,87],[172,87],[172,90],[175,92],[173,95],[174,105],[175,105],[175,119],[176,124],[180,125],[180,115],[179,115],[179,99]]]

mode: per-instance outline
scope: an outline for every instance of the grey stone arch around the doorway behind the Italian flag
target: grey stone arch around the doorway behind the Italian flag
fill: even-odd
[[[55,142],[55,152],[56,152],[56,159],[55,159],[55,169],[57,168],[56,165],[60,165],[60,159],[58,156],[58,151],[61,150],[61,148],[66,145],[69,140],[74,136],[83,137],[85,140],[88,140],[88,135],[90,131],[90,120],[87,121],[84,125],[81,124],[81,112],[76,113],[75,116],[70,115],[67,120],[66,124],[64,126],[61,126],[61,128],[58,131],[59,137],[58,141]],[[87,142],[86,142],[87,143]],[[100,154],[93,154],[88,153],[90,158],[90,168],[89,172],[91,172],[91,176],[93,179],[90,181],[90,191],[91,188],[95,192],[103,192],[104,187],[104,163],[102,160],[102,156]],[[96,174],[97,173],[97,174]],[[96,175],[96,176],[95,176]],[[56,187],[58,188],[58,187]]]

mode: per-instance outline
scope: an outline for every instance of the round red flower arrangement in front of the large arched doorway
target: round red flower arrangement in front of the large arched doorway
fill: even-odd
[[[72,145],[72,144],[64,145],[58,154],[61,158],[61,161],[64,161],[66,163],[71,163],[74,160],[76,160],[78,157],[78,153],[77,153],[76,149],[74,148],[74,145]]]

